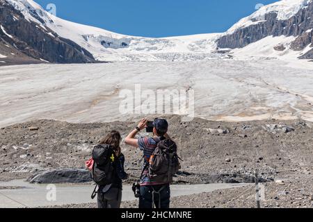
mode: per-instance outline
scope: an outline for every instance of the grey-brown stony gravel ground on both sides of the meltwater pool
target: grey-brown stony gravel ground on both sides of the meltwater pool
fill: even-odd
[[[310,188],[310,181],[313,181],[312,123],[301,120],[227,123],[204,119],[182,122],[177,116],[170,116],[168,120],[169,133],[184,160],[175,183],[254,182],[253,171],[257,169],[260,182],[269,182],[266,185],[268,195],[274,198],[262,203],[264,207],[312,207],[309,200],[313,193]],[[39,120],[1,128],[0,180],[28,178],[47,169],[83,168],[100,137],[110,130],[119,130],[125,137],[134,126],[136,123],[132,122],[74,124]],[[131,183],[141,172],[142,154],[124,144],[122,152],[126,157],[126,170],[131,174],[126,183]],[[286,182],[278,186],[273,180],[280,178]],[[284,189],[288,194],[278,195]],[[298,189],[308,196],[303,203],[298,199]],[[235,198],[241,191],[231,189],[173,198],[172,206],[184,203],[186,207],[223,207],[225,204],[227,207],[253,207],[253,198],[251,203],[245,196]],[[235,200],[227,202],[232,197]],[[298,202],[301,205],[297,205]],[[123,203],[123,206],[136,204]]]

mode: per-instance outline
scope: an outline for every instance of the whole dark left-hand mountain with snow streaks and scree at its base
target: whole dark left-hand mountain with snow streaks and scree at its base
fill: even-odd
[[[30,3],[0,0],[1,64],[95,62],[86,49],[45,26]]]

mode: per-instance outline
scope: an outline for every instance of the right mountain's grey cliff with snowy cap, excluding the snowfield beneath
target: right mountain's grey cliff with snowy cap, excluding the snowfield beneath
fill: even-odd
[[[277,45],[278,51],[289,48],[303,51],[312,44],[313,1],[282,0],[241,19],[218,39],[221,48],[243,48],[265,37],[295,37],[288,44]],[[299,53],[299,58],[312,59],[312,49]]]

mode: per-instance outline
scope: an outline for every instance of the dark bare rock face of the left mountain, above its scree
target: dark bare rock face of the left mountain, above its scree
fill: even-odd
[[[34,16],[35,13],[33,12]],[[0,25],[0,44],[12,46],[11,48],[35,60],[57,63],[95,62],[93,55],[86,49],[59,37],[47,27],[28,21],[4,0],[0,0]]]

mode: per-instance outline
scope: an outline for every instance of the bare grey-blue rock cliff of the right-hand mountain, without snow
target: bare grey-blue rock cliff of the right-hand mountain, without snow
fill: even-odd
[[[220,37],[218,47],[230,49],[242,48],[270,35],[274,37],[280,35],[298,36],[291,44],[291,49],[295,51],[303,50],[306,46],[312,44],[313,1],[290,19],[279,20],[277,16],[277,12],[268,13],[264,17],[264,22],[252,24],[248,27],[238,29],[230,35]],[[313,49],[300,58],[313,58],[312,54]]]

